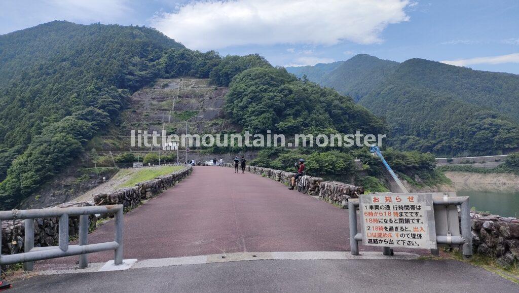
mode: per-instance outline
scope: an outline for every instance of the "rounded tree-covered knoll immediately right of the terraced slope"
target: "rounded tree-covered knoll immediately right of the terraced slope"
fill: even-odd
[[[384,124],[351,98],[315,83],[299,81],[283,68],[252,68],[230,84],[225,111],[251,133],[302,134],[330,129],[379,134]]]

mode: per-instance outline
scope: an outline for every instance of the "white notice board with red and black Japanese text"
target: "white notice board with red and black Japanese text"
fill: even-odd
[[[432,194],[362,194],[359,206],[364,245],[436,249]]]

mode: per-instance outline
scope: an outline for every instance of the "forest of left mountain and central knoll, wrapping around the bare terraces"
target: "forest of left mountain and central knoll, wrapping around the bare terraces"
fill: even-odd
[[[352,99],[259,55],[189,50],[140,26],[53,21],[0,35],[0,208],[16,206],[116,125],[132,92],[184,76],[229,86],[225,118],[251,131],[385,129]]]

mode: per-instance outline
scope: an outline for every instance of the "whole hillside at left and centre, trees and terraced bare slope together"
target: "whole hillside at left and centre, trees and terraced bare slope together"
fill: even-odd
[[[74,168],[142,161],[130,152],[130,130],[182,134],[185,120],[194,115],[204,117],[188,131],[199,134],[243,128],[285,134],[385,129],[350,98],[298,81],[260,55],[189,50],[140,26],[53,21],[1,35],[0,65],[3,209],[36,198],[45,183]],[[148,152],[142,154],[144,163],[158,161],[149,152],[153,149],[142,151]],[[161,161],[174,162],[175,154]]]

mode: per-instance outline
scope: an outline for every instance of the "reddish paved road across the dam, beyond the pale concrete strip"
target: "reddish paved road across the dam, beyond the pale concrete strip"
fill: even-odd
[[[128,212],[124,222],[125,259],[349,250],[347,210],[223,167],[195,167],[187,179]],[[89,244],[113,239],[113,221],[89,234]],[[111,259],[113,251],[89,255],[90,262]],[[39,267],[76,260],[54,259]]]

